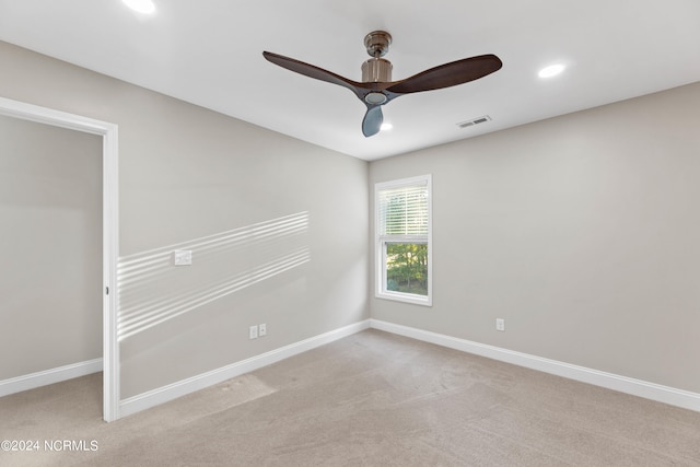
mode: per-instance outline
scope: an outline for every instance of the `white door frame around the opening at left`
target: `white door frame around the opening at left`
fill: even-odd
[[[0,115],[102,136],[103,232],[103,418],[119,418],[119,343],[117,341],[117,260],[119,258],[117,125],[0,97]]]

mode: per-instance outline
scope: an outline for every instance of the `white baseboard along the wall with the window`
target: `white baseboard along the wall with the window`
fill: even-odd
[[[700,412],[700,394],[697,393],[378,319],[370,319],[370,327]]]

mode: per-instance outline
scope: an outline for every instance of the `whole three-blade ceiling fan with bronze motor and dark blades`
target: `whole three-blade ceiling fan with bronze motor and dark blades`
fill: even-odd
[[[382,106],[392,100],[404,94],[440,90],[478,80],[503,66],[494,55],[479,55],[428,69],[405,80],[392,81],[392,62],[382,58],[390,44],[392,35],[386,31],[374,31],[364,37],[364,46],[372,58],[362,63],[362,82],[278,54],[264,51],[262,56],[288,70],[352,91],[368,107],[362,120],[362,133],[365,137],[380,132],[384,120]]]

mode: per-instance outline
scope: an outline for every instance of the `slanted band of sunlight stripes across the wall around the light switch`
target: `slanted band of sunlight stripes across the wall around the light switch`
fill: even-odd
[[[303,211],[120,257],[119,341],[308,262],[307,234]],[[191,250],[191,266],[174,250]]]

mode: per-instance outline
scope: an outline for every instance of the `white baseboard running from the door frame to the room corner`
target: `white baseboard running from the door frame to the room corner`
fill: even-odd
[[[369,328],[370,320],[365,319],[360,323],[252,357],[247,360],[242,360],[187,380],[178,381],[167,386],[159,387],[158,389],[149,390],[148,393],[129,397],[120,401],[119,417],[130,416],[141,410],[159,406],[187,394],[231,380],[232,377],[249,373],[262,366],[279,362],[280,360],[289,359],[290,357],[306,352],[307,350],[330,343]]]

